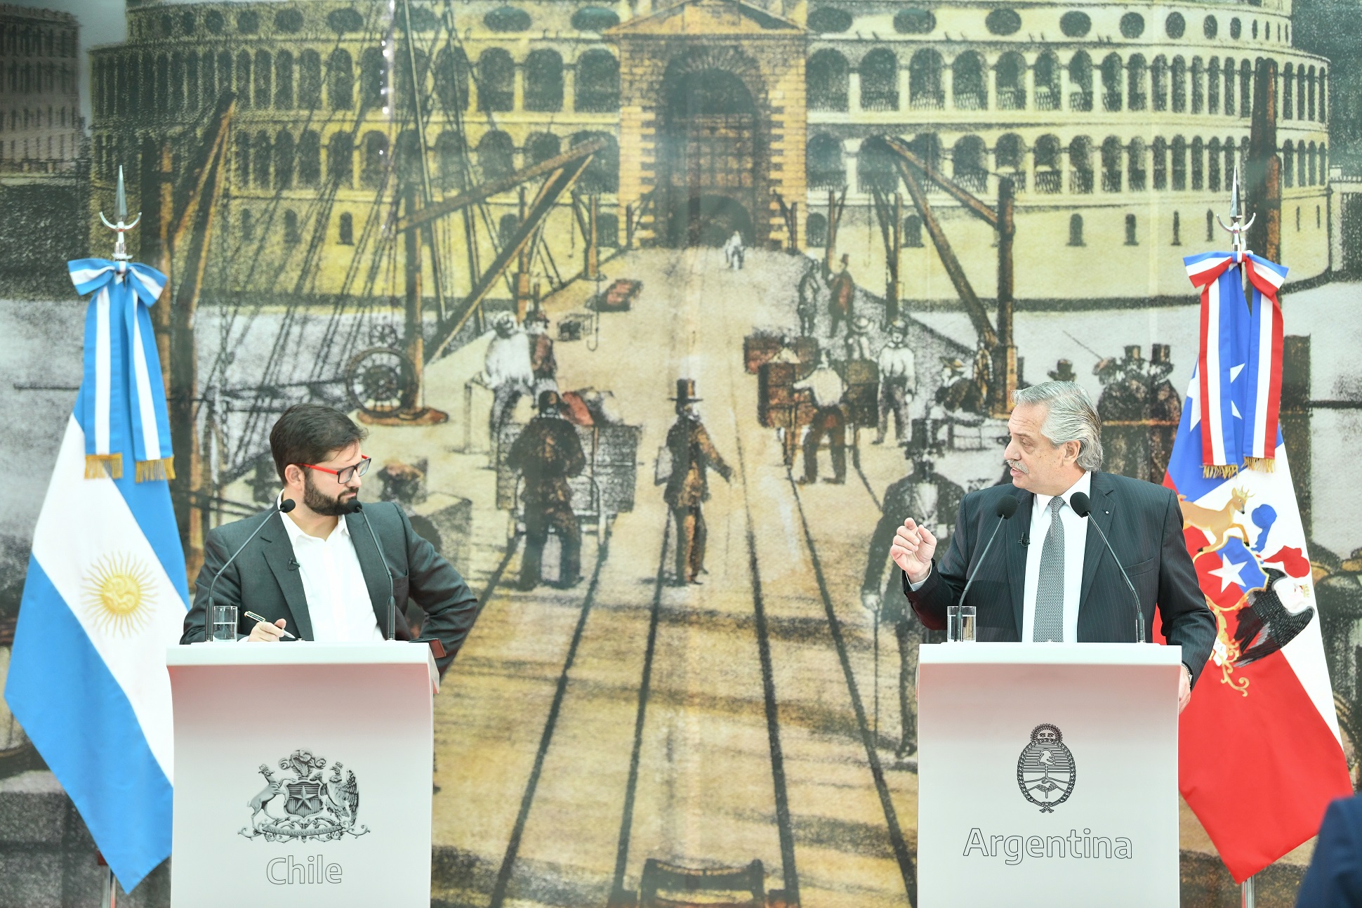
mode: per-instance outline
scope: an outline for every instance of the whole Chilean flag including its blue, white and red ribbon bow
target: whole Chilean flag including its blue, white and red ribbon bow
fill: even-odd
[[[1233,267],[1248,258],[1253,311]],[[1208,262],[1219,270],[1199,281]],[[1352,784],[1278,431],[1286,269],[1242,254],[1186,263],[1203,289],[1203,349],[1163,484],[1181,499],[1218,638],[1181,717],[1179,788],[1242,882],[1314,836]]]

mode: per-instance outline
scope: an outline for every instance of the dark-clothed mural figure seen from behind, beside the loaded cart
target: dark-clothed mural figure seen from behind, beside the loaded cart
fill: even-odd
[[[575,586],[582,579],[582,530],[572,511],[568,479],[586,469],[587,458],[576,428],[563,417],[557,391],[539,393],[539,414],[530,420],[507,457],[507,466],[524,476],[524,556],[520,560],[520,589],[539,585],[543,545],[549,529],[563,541],[558,586]]]

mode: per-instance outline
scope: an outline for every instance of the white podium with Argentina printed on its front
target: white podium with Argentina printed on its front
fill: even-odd
[[[1179,646],[919,653],[921,908],[1177,907]]]

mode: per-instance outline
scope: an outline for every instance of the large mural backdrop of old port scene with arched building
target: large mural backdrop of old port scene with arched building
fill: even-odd
[[[730,868],[734,903],[903,905],[929,635],[892,528],[949,534],[1047,376],[1098,399],[1107,469],[1162,480],[1181,259],[1226,245],[1238,173],[1291,269],[1283,431],[1351,754],[1357,4],[907,3],[0,7],[0,678],[79,382],[64,262],[108,252],[121,169],[172,277],[191,577],[272,500],[275,416],[321,401],[481,592],[436,701],[432,904]],[[549,390],[580,455],[526,429]],[[0,901],[65,904],[93,852],[0,708],[4,799],[41,819],[0,834]],[[1238,904],[1185,806],[1182,848],[1184,904]]]

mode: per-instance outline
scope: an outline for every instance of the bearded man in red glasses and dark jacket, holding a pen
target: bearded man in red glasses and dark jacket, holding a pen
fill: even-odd
[[[473,629],[478,600],[396,503],[358,507],[370,464],[364,438],[330,406],[298,404],[283,412],[270,432],[283,489],[264,513],[208,530],[181,644],[204,639],[208,586],[219,571],[214,603],[237,607],[248,642],[287,639],[285,631],[317,642],[381,641],[391,571],[394,637],[439,639],[445,654],[436,661],[441,672],[448,668]],[[283,514],[279,504],[287,500],[294,507]],[[409,612],[409,603],[419,611]],[[266,620],[245,619],[247,609]]]

